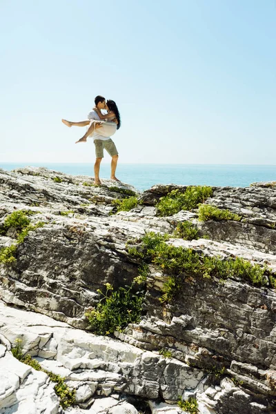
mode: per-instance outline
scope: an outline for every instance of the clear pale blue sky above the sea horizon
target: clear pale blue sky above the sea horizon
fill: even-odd
[[[276,164],[275,45],[275,0],[0,0],[0,161],[92,162],[103,95],[121,163]]]

